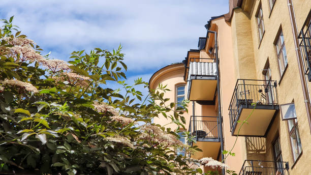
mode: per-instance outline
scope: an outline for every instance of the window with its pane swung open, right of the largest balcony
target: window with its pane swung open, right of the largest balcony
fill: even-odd
[[[299,135],[298,123],[296,119],[295,104],[281,105],[282,119],[287,120],[289,137],[292,146],[292,153],[294,161],[297,160],[302,152],[301,140]]]

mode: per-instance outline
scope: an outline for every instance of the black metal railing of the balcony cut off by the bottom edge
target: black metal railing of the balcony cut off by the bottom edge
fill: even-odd
[[[239,175],[288,175],[288,162],[245,160]]]

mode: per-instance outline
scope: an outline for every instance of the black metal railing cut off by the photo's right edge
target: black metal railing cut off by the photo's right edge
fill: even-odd
[[[300,40],[299,46],[301,50],[301,56],[303,59],[303,65],[305,69],[305,74],[308,80],[311,81],[311,22],[308,25],[304,25],[298,36]]]

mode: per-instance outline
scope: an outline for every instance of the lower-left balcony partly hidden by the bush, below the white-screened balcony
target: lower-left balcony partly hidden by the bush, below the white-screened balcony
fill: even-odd
[[[194,129],[193,129],[194,128]],[[203,152],[199,152],[192,156],[195,159],[203,157],[212,157],[218,160],[220,153],[220,135],[219,120],[217,116],[191,116],[189,123],[189,131],[196,136],[197,145]]]

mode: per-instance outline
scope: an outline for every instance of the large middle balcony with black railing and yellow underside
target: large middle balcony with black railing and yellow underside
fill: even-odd
[[[275,81],[238,79],[229,105],[232,135],[266,136],[278,108]]]

